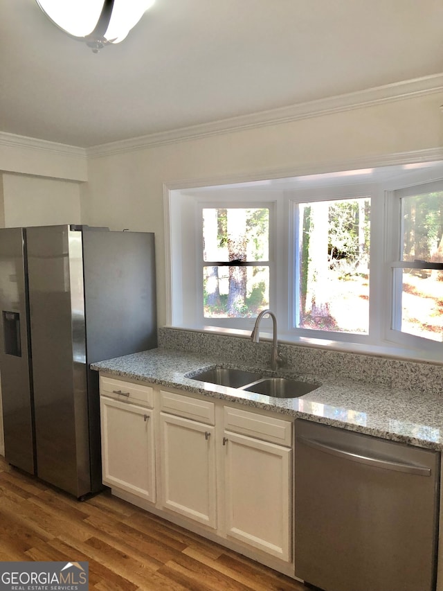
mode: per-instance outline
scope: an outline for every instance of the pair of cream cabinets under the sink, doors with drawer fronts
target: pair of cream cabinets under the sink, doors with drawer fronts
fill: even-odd
[[[219,410],[216,417],[212,402],[161,391],[161,504],[289,562],[292,423]]]

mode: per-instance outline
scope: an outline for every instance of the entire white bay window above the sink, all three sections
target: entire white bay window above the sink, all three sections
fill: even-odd
[[[429,163],[170,191],[170,324],[251,331],[271,308],[288,342],[443,349],[439,179]]]

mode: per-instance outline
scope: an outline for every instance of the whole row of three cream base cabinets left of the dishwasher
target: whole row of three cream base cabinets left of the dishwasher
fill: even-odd
[[[134,385],[108,381],[113,396],[132,396]],[[148,388],[153,408],[101,391],[103,482],[253,558],[292,563],[292,421]]]

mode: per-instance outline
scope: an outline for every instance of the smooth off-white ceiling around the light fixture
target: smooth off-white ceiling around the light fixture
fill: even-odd
[[[443,71],[443,0],[156,0],[97,55],[0,0],[0,131],[89,147]]]

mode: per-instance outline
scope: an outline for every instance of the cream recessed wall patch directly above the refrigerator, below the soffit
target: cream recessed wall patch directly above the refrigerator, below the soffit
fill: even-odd
[[[4,173],[2,185],[6,228],[81,222],[78,182]]]

